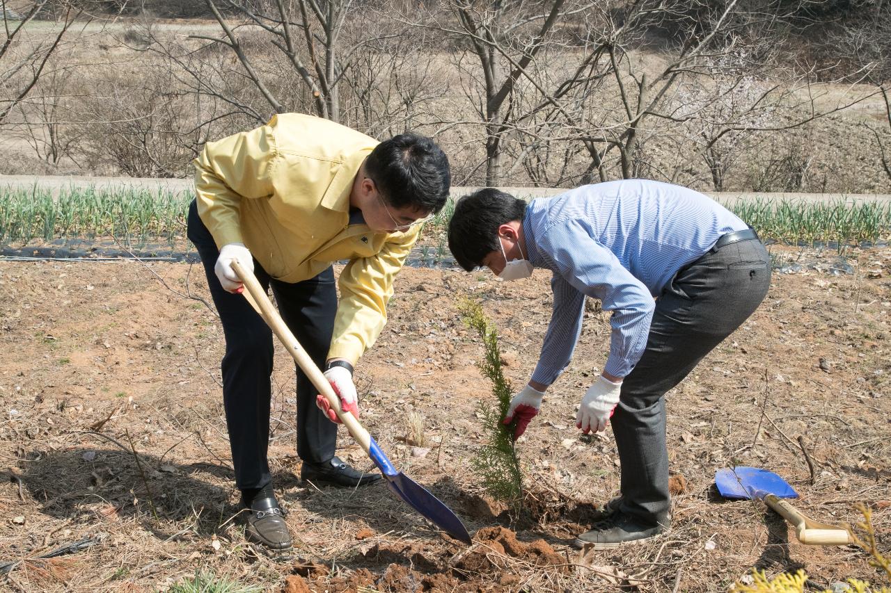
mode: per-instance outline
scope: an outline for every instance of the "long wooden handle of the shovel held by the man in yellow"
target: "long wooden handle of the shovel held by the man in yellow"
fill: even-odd
[[[347,426],[349,434],[353,435],[353,438],[356,439],[356,443],[362,445],[365,453],[370,455],[372,435],[368,434],[368,431],[365,430],[364,426],[359,424],[359,421],[352,413],[344,411],[340,407],[340,398],[338,397],[338,394],[334,393],[334,388],[331,387],[331,383],[328,382],[328,379],[325,378],[322,371],[315,365],[315,362],[310,358],[309,354],[307,354],[307,351],[303,349],[303,346],[300,345],[297,338],[294,337],[294,334],[291,333],[288,326],[282,321],[282,316],[279,315],[278,311],[275,310],[275,307],[269,300],[269,297],[266,296],[266,290],[260,286],[260,283],[257,281],[254,274],[243,269],[241,265],[234,260],[232,262],[232,269],[238,274],[241,281],[244,282],[245,288],[248,288],[248,294],[253,298],[254,303],[259,308],[260,316],[266,321],[266,325],[268,325],[269,329],[273,330],[275,336],[282,341],[282,345],[284,345],[285,349],[287,349],[290,355],[294,358],[294,361],[297,361],[300,369],[306,373],[315,388],[319,390],[319,393],[323,394],[325,399],[331,403],[331,410],[334,410],[337,417],[343,422],[343,426]],[[248,295],[245,295],[245,297],[247,296]]]

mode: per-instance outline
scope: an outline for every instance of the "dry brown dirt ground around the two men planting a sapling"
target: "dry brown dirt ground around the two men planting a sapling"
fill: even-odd
[[[207,296],[200,268],[0,262],[0,565],[20,561],[0,588],[166,589],[198,568],[268,590],[331,592],[724,591],[752,567],[801,567],[820,587],[881,581],[859,549],[800,545],[762,505],[723,502],[713,487],[719,467],[768,467],[822,520],[853,521],[852,503],[869,503],[879,547],[891,548],[891,252],[852,258],[849,275],[776,273],[754,317],[669,394],[671,532],[583,556],[571,541],[618,486],[609,430],[583,438],[572,422],[604,361],[607,315],[591,307],[574,361],[518,444],[538,521],[510,524],[468,469],[483,443],[476,406],[490,390],[457,306],[481,299],[519,386],[550,314],[546,273],[501,283],[406,269],[359,367],[363,422],[397,467],[462,517],[470,548],[380,484],[339,491],[299,481],[293,365],[277,349],[270,458],[296,540],[290,555],[271,556],[233,519],[222,332],[215,313],[186,296]],[[423,456],[405,443],[412,410],[424,418]],[[342,457],[372,467],[345,432],[339,443]],[[77,542],[76,553],[37,560]]]

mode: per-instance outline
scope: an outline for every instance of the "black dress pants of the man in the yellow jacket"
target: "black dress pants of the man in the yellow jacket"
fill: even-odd
[[[266,450],[273,371],[273,334],[266,321],[244,296],[227,292],[214,272],[219,249],[198,215],[194,200],[189,207],[188,237],[204,264],[210,295],[223,323],[223,402],[232,447],[235,485],[241,490],[263,488],[272,481]],[[331,345],[337,289],[329,267],[315,278],[290,284],[270,278],[254,260],[254,274],[266,290],[273,288],[282,319],[319,367]],[[318,390],[297,368],[297,453],[305,461],[334,457],[337,425],[315,406]]]

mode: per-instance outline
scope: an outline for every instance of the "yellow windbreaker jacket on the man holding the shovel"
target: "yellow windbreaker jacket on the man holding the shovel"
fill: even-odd
[[[393,279],[419,232],[349,223],[353,180],[377,144],[326,119],[284,113],[208,142],[194,160],[198,213],[218,248],[244,243],[273,278],[291,283],[349,260],[328,357],[353,364],[387,322]]]

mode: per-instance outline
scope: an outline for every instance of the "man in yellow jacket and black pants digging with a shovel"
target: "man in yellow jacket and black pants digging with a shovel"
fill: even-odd
[[[194,161],[188,236],[225,333],[223,400],[249,539],[290,548],[266,459],[272,332],[239,293],[237,261],[273,288],[282,318],[358,415],[352,373],[387,321],[393,279],[427,216],[446,203],[448,159],[417,134],[377,142],[331,121],[280,114],[208,142]],[[333,262],[340,272],[340,302]],[[337,458],[332,410],[297,369],[300,476],[356,487],[380,479]],[[317,408],[315,403],[318,403]],[[326,403],[326,402],[325,402]]]

